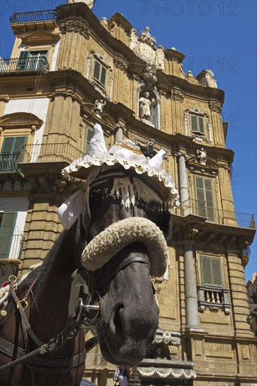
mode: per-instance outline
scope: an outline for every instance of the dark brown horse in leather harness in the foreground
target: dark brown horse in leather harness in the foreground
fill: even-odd
[[[15,289],[15,294],[18,300],[27,301],[25,314],[33,333],[41,342],[48,342],[67,327],[69,309],[76,305],[78,298],[71,300],[70,277],[75,269],[81,269],[79,272],[88,285],[91,298],[99,293],[100,313],[95,319],[95,331],[103,357],[112,364],[131,365],[138,364],[145,357],[147,345],[152,342],[157,330],[159,309],[154,300],[150,274],[151,264],[152,267],[163,264],[158,251],[155,261],[149,257],[151,243],[141,240],[144,229],[141,229],[140,219],[151,220],[153,229],[157,229],[158,225],[166,239],[171,236],[171,220],[169,213],[163,211],[159,202],[147,204],[138,198],[129,209],[124,208],[121,206],[121,199],[110,195],[112,186],[113,180],[110,178],[91,185],[79,220],[62,232],[44,264],[22,281]],[[127,229],[124,224],[128,218],[134,218],[136,229],[139,229],[133,229],[134,239],[130,231],[124,230]],[[117,223],[120,220],[122,221]],[[81,253],[83,254],[86,244],[102,234],[104,229],[111,229],[114,223],[120,224],[123,231],[119,235],[123,243],[121,250],[104,265],[96,264],[96,269],[82,269]],[[151,242],[157,243],[160,235],[156,232],[151,237]],[[112,243],[115,244],[116,241],[111,239],[110,244]],[[144,245],[147,243],[148,248]],[[112,247],[110,245],[109,249]],[[79,288],[78,296],[86,302],[87,295],[84,294],[83,286]],[[22,302],[20,307],[25,308],[25,305]],[[6,317],[0,318],[0,366],[17,359],[21,350],[29,353],[40,344],[34,341],[34,335],[30,334],[22,322],[20,309],[12,294],[9,295],[5,310]],[[89,318],[94,316],[92,312],[94,311],[88,313]],[[84,334],[85,330],[80,328],[77,335],[58,342],[59,350],[37,355],[24,364],[0,371],[0,384],[79,385],[84,373]],[[64,335],[59,334],[59,340]],[[44,361],[41,361],[42,358]]]

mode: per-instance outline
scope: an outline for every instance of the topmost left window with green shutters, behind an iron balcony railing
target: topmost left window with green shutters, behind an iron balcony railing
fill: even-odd
[[[18,70],[45,69],[48,51],[21,51]]]

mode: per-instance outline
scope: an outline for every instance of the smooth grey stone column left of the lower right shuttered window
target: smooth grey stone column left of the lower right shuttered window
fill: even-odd
[[[198,329],[197,284],[195,278],[194,241],[184,241],[185,319],[187,328]]]

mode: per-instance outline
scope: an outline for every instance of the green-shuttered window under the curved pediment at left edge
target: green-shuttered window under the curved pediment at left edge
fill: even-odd
[[[15,171],[17,163],[23,161],[27,136],[5,137],[0,154],[0,170]]]

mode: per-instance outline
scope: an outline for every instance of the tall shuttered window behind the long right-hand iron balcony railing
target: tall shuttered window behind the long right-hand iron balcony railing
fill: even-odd
[[[208,218],[209,221],[215,222],[211,180],[195,176],[195,197],[197,215],[201,215]]]

